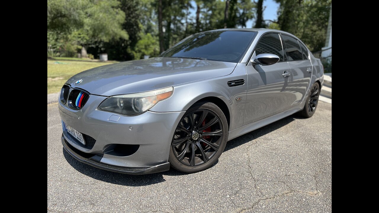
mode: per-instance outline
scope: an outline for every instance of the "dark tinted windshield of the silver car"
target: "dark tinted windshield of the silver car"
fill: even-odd
[[[255,35],[254,31],[197,33],[166,50],[160,56],[238,63],[250,47]]]

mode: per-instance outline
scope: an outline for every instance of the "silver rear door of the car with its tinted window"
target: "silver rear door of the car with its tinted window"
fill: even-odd
[[[291,103],[292,106],[296,106],[305,97],[312,76],[312,64],[308,50],[301,42],[285,34],[282,34],[282,39],[285,47],[284,52],[288,56],[288,64],[291,68],[291,81],[287,90],[296,96],[294,102]]]

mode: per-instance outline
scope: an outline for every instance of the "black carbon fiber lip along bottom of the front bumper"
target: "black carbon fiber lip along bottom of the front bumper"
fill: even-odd
[[[163,172],[170,169],[170,163],[162,163],[157,166],[151,166],[151,167],[143,167],[143,168],[130,168],[130,167],[121,167],[121,166],[113,166],[105,163],[101,163],[95,160],[91,160],[89,158],[82,157],[77,152],[72,150],[69,145],[67,144],[66,139],[64,139],[64,136],[62,135],[62,144],[64,149],[75,159],[78,161],[81,161],[83,163],[86,163],[88,165],[94,166],[99,169],[105,169],[112,172],[119,172],[123,174],[133,174],[133,175],[142,175],[142,174],[152,174],[156,172]]]

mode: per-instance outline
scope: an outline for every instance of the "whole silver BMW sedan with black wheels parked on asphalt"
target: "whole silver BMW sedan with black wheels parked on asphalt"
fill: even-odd
[[[86,70],[59,96],[62,143],[114,172],[199,172],[227,141],[294,113],[311,117],[323,66],[296,36],[268,29],[193,34],[155,58]]]

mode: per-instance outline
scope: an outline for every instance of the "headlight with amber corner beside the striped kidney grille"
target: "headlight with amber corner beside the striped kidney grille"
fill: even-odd
[[[100,103],[97,109],[124,115],[141,114],[161,100],[169,98],[173,90],[173,87],[168,87],[149,92],[111,96]]]

